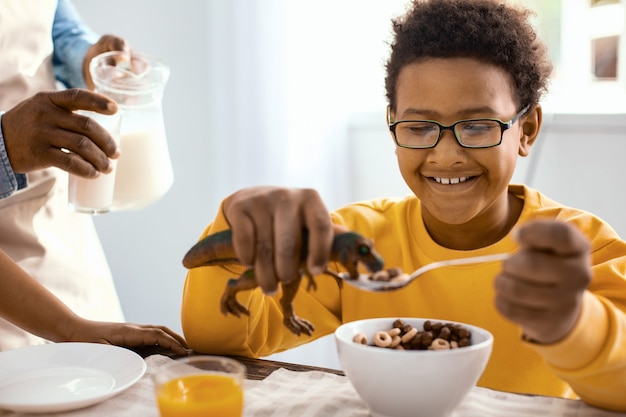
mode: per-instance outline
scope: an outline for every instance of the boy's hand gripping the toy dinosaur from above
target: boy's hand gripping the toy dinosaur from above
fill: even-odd
[[[308,230],[307,269],[321,273],[328,264],[333,226],[322,199],[311,189],[254,187],[224,200],[223,211],[241,262],[254,268],[257,283],[274,294],[278,283],[298,275],[302,230]]]

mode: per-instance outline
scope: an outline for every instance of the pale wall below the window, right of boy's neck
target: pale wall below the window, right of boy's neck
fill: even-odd
[[[547,115],[525,181],[600,216],[626,238],[626,107],[614,110],[621,114]]]

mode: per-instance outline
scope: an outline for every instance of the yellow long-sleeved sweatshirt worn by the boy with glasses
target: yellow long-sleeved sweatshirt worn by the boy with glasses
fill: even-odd
[[[225,317],[219,302],[226,282],[241,268],[202,267],[187,274],[182,327],[189,345],[211,354],[266,356],[332,333],[341,323],[367,317],[428,317],[474,324],[494,335],[493,353],[478,385],[501,391],[566,398],[580,397],[599,407],[626,411],[626,242],[592,214],[560,205],[525,186],[510,192],[524,200],[517,224],[552,218],[578,226],[591,241],[593,281],[584,296],[579,322],[568,337],[552,345],[523,341],[520,329],[496,311],[493,278],[499,262],[436,269],[402,290],[389,293],[339,289],[328,276],[306,280],[296,295],[298,316],[315,325],[311,337],[295,336],[282,324],[280,293],[268,297],[257,288],[240,292],[250,317]],[[332,214],[335,223],[371,238],[386,267],[413,271],[449,258],[513,252],[510,234],[477,250],[450,250],[428,235],[419,200],[380,199],[351,204]],[[202,237],[228,227],[223,215]]]

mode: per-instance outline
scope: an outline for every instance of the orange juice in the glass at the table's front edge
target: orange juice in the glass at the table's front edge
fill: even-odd
[[[226,375],[186,375],[163,384],[157,402],[161,417],[241,417],[243,390]]]

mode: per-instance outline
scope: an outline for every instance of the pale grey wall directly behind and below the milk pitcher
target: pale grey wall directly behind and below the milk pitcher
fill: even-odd
[[[125,37],[168,63],[163,108],[174,185],[154,205],[95,218],[129,321],[181,331],[181,259],[230,192],[210,136],[208,3],[203,0],[76,0],[97,32]]]

